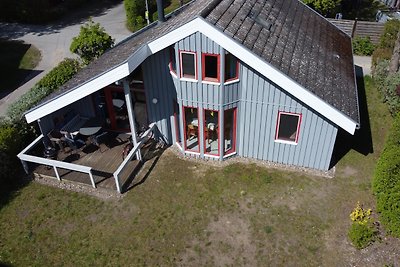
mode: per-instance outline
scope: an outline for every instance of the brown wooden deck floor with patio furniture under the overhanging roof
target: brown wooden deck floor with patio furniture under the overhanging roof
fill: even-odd
[[[59,151],[57,160],[92,167],[93,178],[97,187],[117,190],[113,173],[122,163],[122,150],[127,144],[127,136],[118,136],[113,138],[109,147],[101,145],[97,147],[93,144],[85,146],[83,149],[71,151],[65,148],[65,151]],[[43,149],[37,149],[36,155],[42,156]],[[122,188],[128,188],[135,174],[140,170],[141,163],[132,160],[128,163],[124,171],[121,173],[120,184]],[[91,186],[89,175],[76,171],[57,168],[60,178],[73,182],[79,182]],[[49,166],[36,165],[33,173],[36,177],[52,177],[56,178],[54,169]]]

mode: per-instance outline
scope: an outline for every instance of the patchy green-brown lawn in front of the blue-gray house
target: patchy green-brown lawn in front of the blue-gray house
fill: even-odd
[[[147,180],[103,201],[30,183],[0,207],[0,262],[15,266],[383,266],[399,240],[354,249],[349,213],[374,208],[370,180],[391,124],[367,80],[374,153],[336,177],[186,161],[167,150]]]

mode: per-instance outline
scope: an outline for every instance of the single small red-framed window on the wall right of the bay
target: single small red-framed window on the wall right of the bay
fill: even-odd
[[[300,124],[301,114],[279,111],[275,140],[297,144]]]

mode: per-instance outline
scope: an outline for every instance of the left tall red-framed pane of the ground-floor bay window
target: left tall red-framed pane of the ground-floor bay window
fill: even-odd
[[[200,152],[197,108],[184,107],[185,150]]]

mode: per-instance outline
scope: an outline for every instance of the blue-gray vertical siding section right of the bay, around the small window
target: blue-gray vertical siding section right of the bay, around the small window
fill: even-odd
[[[239,155],[308,168],[329,168],[336,126],[247,66],[241,67],[240,85]],[[296,145],[275,141],[279,111],[302,115]]]

